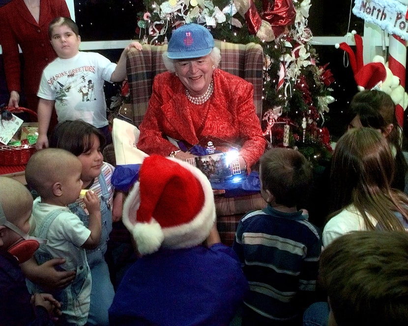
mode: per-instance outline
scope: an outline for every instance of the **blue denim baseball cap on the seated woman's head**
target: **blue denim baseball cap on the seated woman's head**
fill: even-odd
[[[214,38],[207,28],[186,24],[173,31],[167,48],[170,59],[191,59],[207,55],[214,47]]]

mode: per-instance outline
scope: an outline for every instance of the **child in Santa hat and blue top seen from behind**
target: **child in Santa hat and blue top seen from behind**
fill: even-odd
[[[248,284],[215,219],[199,169],[158,155],[144,160],[123,207],[141,258],[117,289],[111,325],[229,325]]]

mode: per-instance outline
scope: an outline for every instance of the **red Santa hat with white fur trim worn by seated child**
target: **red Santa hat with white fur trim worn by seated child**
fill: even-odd
[[[123,205],[123,224],[142,255],[160,247],[201,244],[215,221],[214,194],[195,166],[158,155],[146,157]]]

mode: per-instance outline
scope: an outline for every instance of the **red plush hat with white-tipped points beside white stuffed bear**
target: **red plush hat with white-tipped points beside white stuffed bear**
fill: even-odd
[[[354,80],[357,83],[358,90],[376,89],[387,78],[387,71],[381,62],[363,63],[363,40],[355,30],[351,32],[354,35],[356,52],[351,50],[346,42],[336,44],[337,49],[346,51],[349,54],[350,66],[354,74]]]

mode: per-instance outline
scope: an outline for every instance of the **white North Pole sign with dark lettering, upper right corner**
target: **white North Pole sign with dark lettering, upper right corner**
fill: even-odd
[[[408,0],[354,0],[353,14],[408,40]]]

